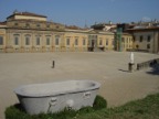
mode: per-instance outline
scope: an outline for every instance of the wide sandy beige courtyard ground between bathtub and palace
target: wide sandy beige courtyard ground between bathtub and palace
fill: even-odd
[[[129,73],[129,55],[128,52],[0,54],[0,119],[4,118],[7,107],[19,102],[13,89],[20,85],[93,79],[102,84],[99,95],[112,107],[159,93],[159,72],[147,68]],[[151,58],[159,55],[135,53],[136,63]]]

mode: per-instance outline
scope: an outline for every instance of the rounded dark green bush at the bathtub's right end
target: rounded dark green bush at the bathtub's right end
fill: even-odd
[[[107,107],[107,101],[102,96],[96,96],[95,101],[93,104],[93,108],[95,110],[98,110],[106,107]]]

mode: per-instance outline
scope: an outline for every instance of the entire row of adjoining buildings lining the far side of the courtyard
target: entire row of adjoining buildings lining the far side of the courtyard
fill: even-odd
[[[118,32],[121,30],[121,32]],[[91,29],[47,21],[45,15],[14,11],[0,22],[0,52],[159,52],[159,22],[99,23]]]

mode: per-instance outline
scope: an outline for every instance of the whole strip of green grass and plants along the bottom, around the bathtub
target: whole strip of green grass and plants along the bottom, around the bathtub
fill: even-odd
[[[159,94],[115,108],[96,110],[87,107],[78,111],[64,110],[60,113],[38,116],[29,116],[11,106],[6,110],[6,119],[159,119]]]

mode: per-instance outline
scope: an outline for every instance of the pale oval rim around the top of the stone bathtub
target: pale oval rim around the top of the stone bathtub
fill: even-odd
[[[60,91],[47,91],[47,93],[34,93],[34,94],[29,94],[29,93],[23,93],[22,89],[28,88],[28,87],[33,87],[33,86],[41,86],[41,85],[55,85],[55,84],[61,84],[61,83],[68,83],[68,82],[76,82],[76,83],[91,83],[93,86],[89,87],[83,87],[83,88],[74,88],[74,90],[68,89],[68,90],[60,90]],[[18,96],[22,97],[32,97],[32,98],[38,98],[38,97],[50,97],[50,96],[57,96],[57,95],[66,95],[66,94],[75,94],[75,93],[83,93],[83,91],[91,91],[95,89],[99,89],[100,84],[94,80],[62,80],[62,82],[52,82],[52,83],[42,83],[42,84],[29,84],[29,85],[21,85],[18,88],[15,88],[13,91]],[[47,88],[47,87],[46,87]]]

